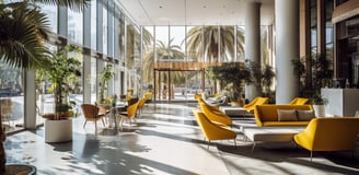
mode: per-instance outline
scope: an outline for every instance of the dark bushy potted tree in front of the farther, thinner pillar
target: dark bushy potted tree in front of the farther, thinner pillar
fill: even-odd
[[[210,77],[219,80],[229,90],[231,103],[243,103],[243,86],[252,82],[252,74],[243,62],[223,62],[221,66],[210,67]]]

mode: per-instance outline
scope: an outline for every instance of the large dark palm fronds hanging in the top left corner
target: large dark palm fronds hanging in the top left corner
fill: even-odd
[[[23,69],[40,66],[48,52],[43,40],[48,32],[46,14],[19,2],[0,4],[0,60]]]

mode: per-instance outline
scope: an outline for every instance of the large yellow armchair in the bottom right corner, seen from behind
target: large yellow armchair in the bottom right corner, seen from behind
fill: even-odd
[[[311,151],[354,151],[359,133],[359,118],[314,118],[294,135],[294,141]]]

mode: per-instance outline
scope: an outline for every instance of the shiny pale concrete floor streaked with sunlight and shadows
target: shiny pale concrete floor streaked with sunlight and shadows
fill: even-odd
[[[38,175],[252,175],[252,174],[359,174],[358,152],[310,152],[292,143],[204,141],[196,126],[196,105],[150,104],[137,124],[125,124],[123,131],[93,122],[83,129],[83,117],[73,119],[73,141],[45,143],[44,129],[9,136],[8,163],[36,166]],[[235,118],[253,124],[252,117]],[[236,127],[233,129],[238,130]]]

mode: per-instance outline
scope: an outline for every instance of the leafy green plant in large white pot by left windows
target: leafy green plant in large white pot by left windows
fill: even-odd
[[[54,94],[54,113],[44,114],[45,141],[63,142],[72,140],[72,120],[78,115],[74,109],[76,102],[69,100],[81,75],[81,62],[69,55],[81,54],[76,46],[68,45],[59,48],[48,56],[48,65],[38,69],[38,80],[51,83],[50,92]]]

